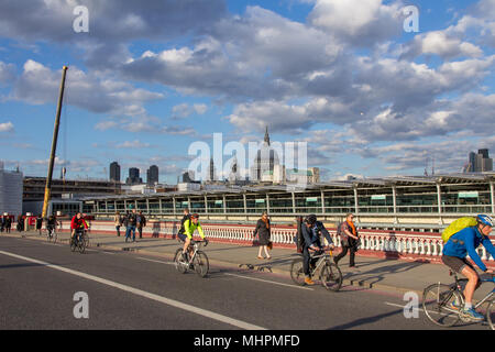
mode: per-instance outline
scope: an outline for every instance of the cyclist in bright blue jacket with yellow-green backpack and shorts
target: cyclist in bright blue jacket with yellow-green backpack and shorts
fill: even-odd
[[[490,216],[479,215],[476,217],[477,226],[465,228],[458,233],[454,233],[446,246],[443,248],[442,262],[455,273],[461,273],[468,277],[468,284],[464,288],[465,305],[461,314],[472,320],[481,321],[484,316],[473,309],[473,295],[476,288],[480,287],[480,277],[473,265],[468,262],[466,255],[476,263],[476,265],[485,273],[493,274],[492,270],[486,268],[486,265],[480,258],[476,249],[480,244],[495,257],[495,248],[490,241],[490,233],[494,224],[494,220]],[[452,308],[461,309],[459,302],[452,302]]]

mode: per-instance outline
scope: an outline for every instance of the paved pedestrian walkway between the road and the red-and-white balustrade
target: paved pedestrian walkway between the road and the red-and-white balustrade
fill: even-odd
[[[19,232],[13,232],[9,235],[21,238]],[[23,232],[22,235],[28,239],[46,241],[45,237],[38,235],[36,232]],[[58,242],[68,244],[69,234],[59,233],[58,239]],[[91,232],[89,239],[90,248],[147,254],[169,261],[173,260],[175,251],[179,248],[177,240],[163,238],[143,238],[136,239],[136,242],[125,243],[125,237]],[[289,275],[292,261],[298,257],[295,250],[274,248],[271,252],[271,260],[258,260],[256,257],[257,248],[212,241],[205,248],[205,252],[208,254],[211,265],[271,272],[286,276]],[[355,268],[349,267],[349,256],[343,257],[339,262],[339,267],[344,277],[344,286],[352,285],[362,288],[394,290],[396,293],[416,292],[421,295],[422,289],[432,283],[450,284],[453,282],[453,278],[449,276],[448,268],[440,264],[359,255],[356,255],[355,262]],[[480,295],[482,297],[492,287],[482,287],[476,292],[476,296]]]

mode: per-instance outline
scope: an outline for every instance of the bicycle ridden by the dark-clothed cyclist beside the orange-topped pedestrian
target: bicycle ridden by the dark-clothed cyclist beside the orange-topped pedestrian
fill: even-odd
[[[319,271],[321,285],[328,290],[338,292],[342,287],[342,272],[339,266],[331,261],[332,257],[332,251],[329,251],[328,253],[324,251],[315,252],[309,260],[309,274],[311,277],[315,277],[316,273]],[[317,262],[311,265],[315,260]],[[296,258],[290,264],[290,278],[296,285],[306,285],[302,258]]]

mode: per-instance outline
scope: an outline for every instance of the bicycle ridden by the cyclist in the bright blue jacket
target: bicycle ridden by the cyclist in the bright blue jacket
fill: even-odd
[[[451,285],[432,284],[425,288],[422,293],[422,309],[428,319],[440,327],[452,327],[459,320],[472,322],[469,317],[462,315],[464,306],[464,295],[462,294],[462,283],[466,283],[466,278],[459,278],[457,273],[450,271],[450,276],[454,276],[454,283]],[[481,278],[481,283],[495,284],[495,276],[490,279]],[[474,309],[481,307],[488,301],[486,308],[486,320],[492,330],[495,330],[495,288],[488,293],[482,300],[473,306]],[[494,298],[493,298],[494,297]],[[453,302],[458,306],[454,306]],[[455,307],[455,308],[454,308]]]

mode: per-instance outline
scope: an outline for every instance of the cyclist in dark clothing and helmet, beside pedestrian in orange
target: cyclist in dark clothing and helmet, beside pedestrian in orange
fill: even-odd
[[[320,242],[321,234],[327,239],[330,249],[333,249],[333,241],[330,238],[330,233],[328,233],[324,226],[321,221],[318,221],[315,215],[307,216],[304,223],[305,226],[301,227],[301,234],[305,239],[305,244],[302,248],[302,270],[305,272],[305,284],[315,285],[315,282],[309,275],[309,262],[311,260],[309,251],[321,252],[324,250]]]

